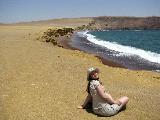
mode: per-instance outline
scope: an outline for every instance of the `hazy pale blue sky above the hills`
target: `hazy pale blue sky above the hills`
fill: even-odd
[[[93,16],[160,16],[160,0],[0,0],[0,22]]]

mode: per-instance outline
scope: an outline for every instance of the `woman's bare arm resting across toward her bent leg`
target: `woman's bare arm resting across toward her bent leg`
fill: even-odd
[[[121,104],[119,101],[114,100],[110,94],[105,93],[105,91],[104,91],[104,89],[102,88],[101,85],[97,86],[96,89],[97,89],[97,92],[100,95],[100,97],[102,97],[102,99],[107,101],[107,103],[109,103],[109,104],[118,104],[118,105]]]

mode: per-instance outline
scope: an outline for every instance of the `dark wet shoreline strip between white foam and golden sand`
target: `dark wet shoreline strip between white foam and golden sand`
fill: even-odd
[[[79,31],[78,33],[83,34]],[[110,57],[109,56],[110,50],[107,50],[104,47],[95,45],[94,43],[87,40],[86,37],[79,36],[77,32],[75,32],[70,37],[70,40],[66,41],[66,43],[65,41],[63,42],[64,42],[63,43],[64,46],[66,46],[65,44],[67,44],[67,48],[69,49],[73,49],[73,50],[76,49],[76,50],[80,50],[88,54],[95,55],[97,58],[99,58],[102,61],[103,64],[108,65],[108,66],[126,68],[130,70],[146,70],[146,71],[156,71],[156,72],[159,71],[158,63],[152,63],[152,62],[149,63],[149,61],[139,57],[138,55],[133,54],[129,57],[121,56],[121,58],[118,58],[116,56]],[[109,51],[108,55],[107,55],[106,50]],[[142,61],[139,61],[140,59]]]

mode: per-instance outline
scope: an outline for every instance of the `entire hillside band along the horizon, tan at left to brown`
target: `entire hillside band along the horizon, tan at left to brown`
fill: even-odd
[[[4,25],[4,24],[3,24]],[[85,29],[159,29],[160,17],[82,17],[12,23],[21,26],[79,27]]]

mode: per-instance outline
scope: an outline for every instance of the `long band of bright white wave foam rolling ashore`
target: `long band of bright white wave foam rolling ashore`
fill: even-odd
[[[101,46],[106,47],[110,50],[120,52],[119,55],[121,55],[121,56],[138,55],[141,58],[144,58],[150,62],[160,63],[160,54],[157,54],[157,53],[154,53],[151,51],[145,51],[145,50],[138,49],[138,48],[131,47],[131,46],[120,45],[116,42],[103,41],[101,39],[97,39],[94,35],[88,34],[88,31],[79,32],[78,35],[80,35],[80,34],[82,34],[83,37],[86,37],[92,43],[95,43],[97,45],[101,45]]]

